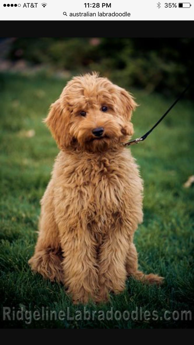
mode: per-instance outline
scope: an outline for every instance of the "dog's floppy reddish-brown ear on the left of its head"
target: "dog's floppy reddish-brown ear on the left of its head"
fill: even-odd
[[[69,121],[67,117],[67,111],[61,107],[60,99],[58,99],[55,103],[51,104],[49,114],[43,120],[50,129],[60,149],[70,144],[70,136],[67,128]]]

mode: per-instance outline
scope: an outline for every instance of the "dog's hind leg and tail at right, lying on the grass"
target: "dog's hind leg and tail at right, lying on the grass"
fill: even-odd
[[[133,276],[137,280],[141,280],[145,284],[162,284],[163,277],[159,277],[157,274],[144,274],[138,270],[138,258],[137,250],[134,243],[129,245],[126,260],[126,270],[128,276]]]

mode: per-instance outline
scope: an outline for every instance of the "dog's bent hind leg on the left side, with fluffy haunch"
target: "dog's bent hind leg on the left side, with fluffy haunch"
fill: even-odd
[[[44,278],[58,282],[63,279],[62,253],[59,242],[59,231],[54,218],[51,185],[49,184],[41,204],[39,236],[35,253],[28,261],[32,271],[40,273]]]

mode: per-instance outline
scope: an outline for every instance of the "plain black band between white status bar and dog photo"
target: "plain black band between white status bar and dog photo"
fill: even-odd
[[[17,18],[16,18],[17,19]],[[3,21],[0,37],[194,37],[192,20]]]

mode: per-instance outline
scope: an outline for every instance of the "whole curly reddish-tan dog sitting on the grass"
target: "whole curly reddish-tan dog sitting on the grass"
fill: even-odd
[[[69,81],[45,122],[60,152],[41,200],[33,271],[62,281],[74,302],[106,300],[138,271],[134,231],[142,222],[142,180],[130,150],[136,103],[124,89],[92,75]]]

